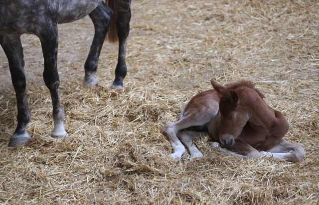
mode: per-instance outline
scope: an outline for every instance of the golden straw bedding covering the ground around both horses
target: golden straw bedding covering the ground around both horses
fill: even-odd
[[[52,105],[37,37],[23,35],[31,111],[25,147],[8,148],[16,103],[0,49],[0,204],[317,204],[319,4],[133,0],[125,91],[112,90],[117,45],[105,43],[99,85],[83,88],[88,17],[59,25],[60,100],[68,141],[50,138]],[[195,140],[202,158],[169,158],[160,128],[195,94],[250,79],[290,123],[303,162],[240,160]]]

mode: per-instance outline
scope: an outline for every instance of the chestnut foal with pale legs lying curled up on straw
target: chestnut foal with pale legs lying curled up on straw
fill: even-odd
[[[224,153],[243,159],[263,155],[292,162],[304,159],[303,147],[283,140],[289,129],[284,115],[265,103],[264,95],[251,81],[226,87],[214,81],[211,84],[214,89],[195,95],[178,120],[160,130],[173,146],[171,157],[178,161],[185,152],[184,146],[191,157],[202,157],[192,141],[208,131],[215,141],[211,147],[221,143]],[[185,130],[193,126],[199,132]]]

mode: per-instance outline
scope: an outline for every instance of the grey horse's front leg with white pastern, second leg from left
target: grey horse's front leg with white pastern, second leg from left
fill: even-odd
[[[43,58],[44,58],[44,71],[43,79],[44,83],[50,91],[52,106],[53,106],[53,120],[54,128],[51,133],[53,138],[67,137],[67,133],[64,129],[64,111],[61,107],[58,88],[60,84],[59,74],[57,70],[57,52],[58,52],[58,30],[57,23],[47,22],[45,26],[41,27],[38,34]]]

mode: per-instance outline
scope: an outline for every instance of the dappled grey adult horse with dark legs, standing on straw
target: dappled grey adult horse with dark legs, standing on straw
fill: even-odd
[[[109,0],[108,4],[110,6],[113,4],[114,9],[102,0],[0,0],[0,45],[8,59],[18,109],[17,127],[9,146],[24,145],[30,139],[26,131],[30,111],[26,98],[21,34],[34,34],[41,42],[44,58],[43,79],[50,91],[53,105],[54,128],[51,134],[53,138],[67,136],[63,124],[64,111],[58,97],[59,75],[56,62],[58,23],[72,22],[86,15],[89,15],[93,21],[95,34],[84,65],[83,85],[89,86],[98,83],[94,74],[110,21],[114,16],[119,39],[119,57],[113,88],[123,89],[123,79],[127,72],[125,49],[130,30],[131,0]]]

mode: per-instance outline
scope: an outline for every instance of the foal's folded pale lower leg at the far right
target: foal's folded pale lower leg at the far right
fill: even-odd
[[[282,140],[274,148],[267,150],[267,152],[260,152],[261,155],[267,157],[273,156],[290,162],[300,162],[305,158],[305,150],[300,145],[295,145],[286,140]]]

